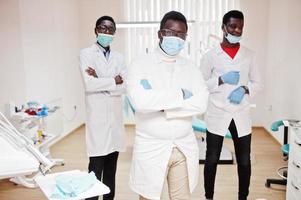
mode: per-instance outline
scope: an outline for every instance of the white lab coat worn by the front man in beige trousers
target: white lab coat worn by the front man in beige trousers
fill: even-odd
[[[147,79],[152,89],[145,90],[141,79]],[[183,100],[181,88],[193,96]],[[201,71],[187,59],[172,59],[158,48],[132,62],[127,91],[136,110],[130,187],[148,199],[160,199],[172,148],[177,147],[186,157],[192,192],[198,181],[199,150],[191,121],[206,110],[208,99]]]

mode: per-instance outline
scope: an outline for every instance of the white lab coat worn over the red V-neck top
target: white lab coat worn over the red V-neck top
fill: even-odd
[[[240,46],[232,59],[220,45],[208,51],[201,61],[201,71],[210,92],[205,120],[209,132],[225,136],[232,119],[235,121],[238,136],[251,133],[250,97],[262,89],[263,84],[254,53]],[[218,77],[229,71],[239,71],[238,85],[218,85]],[[246,94],[240,104],[230,103],[229,94],[239,86],[247,86]]]

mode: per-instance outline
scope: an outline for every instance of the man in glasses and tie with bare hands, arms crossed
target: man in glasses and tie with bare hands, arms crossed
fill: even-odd
[[[126,67],[123,56],[110,48],[115,31],[112,17],[100,17],[95,27],[97,42],[80,52],[89,171],[110,188],[104,200],[114,199],[118,152],[126,148],[121,97],[125,93]]]

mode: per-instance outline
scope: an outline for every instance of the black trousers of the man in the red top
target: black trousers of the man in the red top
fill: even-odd
[[[232,135],[237,160],[237,171],[239,179],[238,199],[246,200],[249,194],[251,178],[251,134],[239,138],[233,119],[230,123],[229,131]],[[213,198],[217,162],[221,154],[223,140],[224,137],[207,131],[207,150],[204,166],[204,187],[205,196],[207,199]]]

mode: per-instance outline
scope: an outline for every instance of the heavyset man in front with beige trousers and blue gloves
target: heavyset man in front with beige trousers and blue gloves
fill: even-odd
[[[165,179],[170,199],[189,199],[197,185],[192,117],[205,111],[208,91],[201,71],[179,55],[186,36],[186,18],[165,14],[159,46],[129,68],[127,91],[136,110],[130,187],[140,199],[160,199]]]

